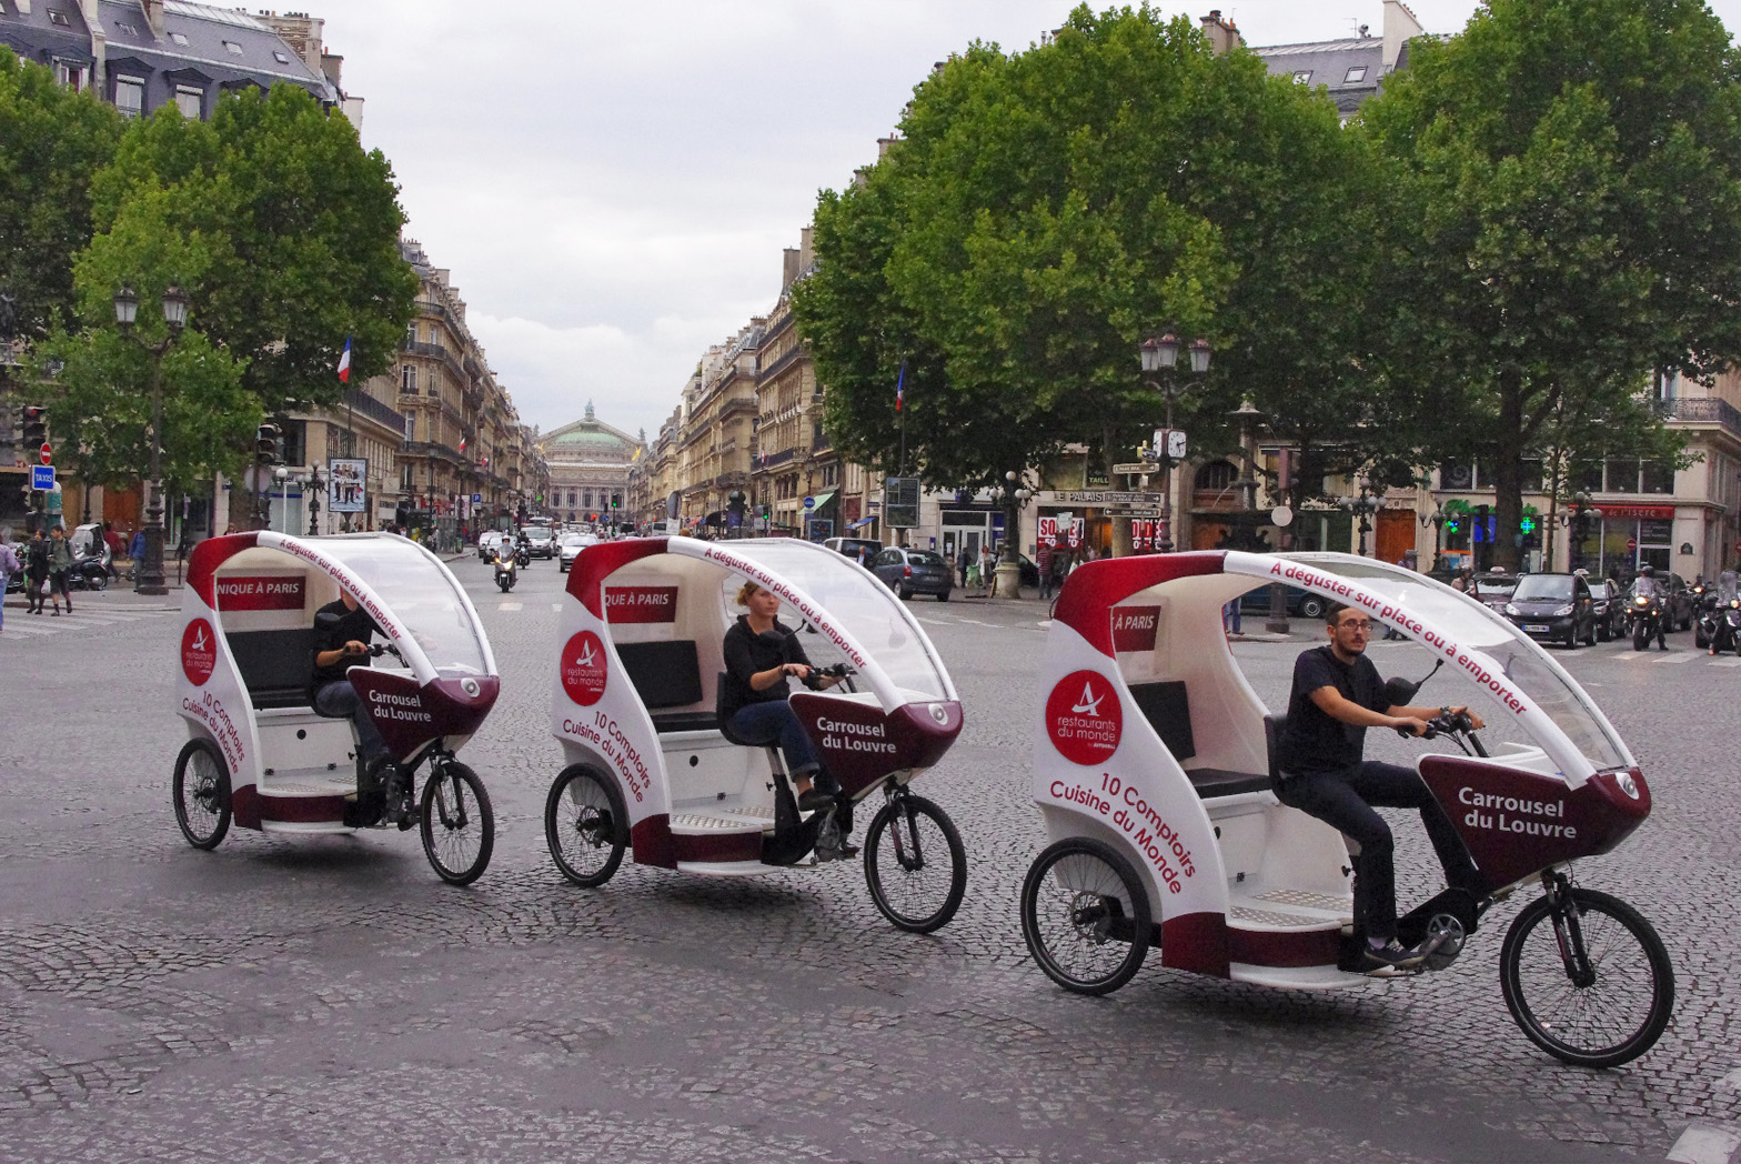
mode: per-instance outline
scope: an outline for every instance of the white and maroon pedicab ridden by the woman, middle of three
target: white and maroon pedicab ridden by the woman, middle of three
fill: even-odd
[[[799,810],[780,751],[719,716],[723,640],[738,587],[782,599],[813,664],[844,680],[790,697],[839,784]],[[703,876],[825,866],[853,854],[853,807],[879,795],[864,836],[870,899],[897,927],[931,932],[961,906],[966,854],[949,815],[911,791],[961,732],[961,702],[918,620],[858,563],[792,538],[623,538],[569,568],[550,732],[566,767],[545,838],[576,885],[606,883],[632,854]]]

